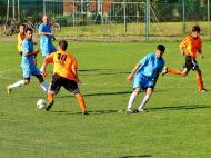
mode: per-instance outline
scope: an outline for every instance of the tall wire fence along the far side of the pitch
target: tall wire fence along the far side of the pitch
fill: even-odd
[[[7,6],[0,9],[3,21]],[[209,0],[20,0],[21,22],[27,17],[41,20],[43,13],[60,23],[56,33],[62,37],[171,39],[199,24],[210,39]]]

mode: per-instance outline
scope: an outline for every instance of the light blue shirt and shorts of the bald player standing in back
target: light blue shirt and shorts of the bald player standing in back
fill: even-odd
[[[39,32],[49,32],[51,33],[51,27],[49,24],[40,24]],[[40,49],[43,57],[49,56],[51,52],[57,51],[52,41],[51,36],[40,36]]]

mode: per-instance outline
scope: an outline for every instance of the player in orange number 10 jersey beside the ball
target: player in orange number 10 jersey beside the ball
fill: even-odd
[[[74,57],[67,51],[68,42],[61,40],[58,46],[58,51],[49,55],[42,63],[41,72],[43,76],[47,75],[47,66],[53,63],[53,76],[48,91],[48,107],[49,111],[54,103],[53,96],[57,95],[62,87],[68,91],[73,91],[79,106],[83,115],[88,115],[86,103],[82,95],[79,91],[78,85],[81,83],[78,77],[78,63]]]

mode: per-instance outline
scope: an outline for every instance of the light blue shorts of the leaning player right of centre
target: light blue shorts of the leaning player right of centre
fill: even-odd
[[[154,88],[154,81],[147,76],[139,73],[134,77],[132,88],[140,88],[141,90],[147,90],[147,88]]]

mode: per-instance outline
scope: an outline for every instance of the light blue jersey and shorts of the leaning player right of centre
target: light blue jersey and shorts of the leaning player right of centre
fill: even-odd
[[[162,71],[164,60],[158,59],[155,53],[149,53],[140,60],[140,67],[134,75],[133,89],[141,88],[145,90],[148,87],[154,87],[154,79]]]

